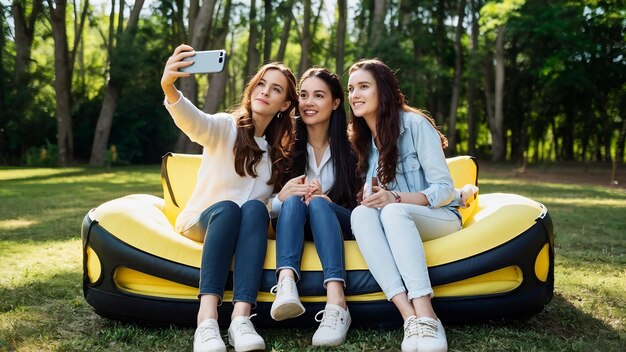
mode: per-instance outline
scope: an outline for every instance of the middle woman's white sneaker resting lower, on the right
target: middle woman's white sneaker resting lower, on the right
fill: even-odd
[[[322,313],[322,318],[318,316]],[[320,326],[313,335],[313,346],[339,346],[346,340],[352,322],[348,309],[335,304],[326,304],[324,310],[315,315]]]

